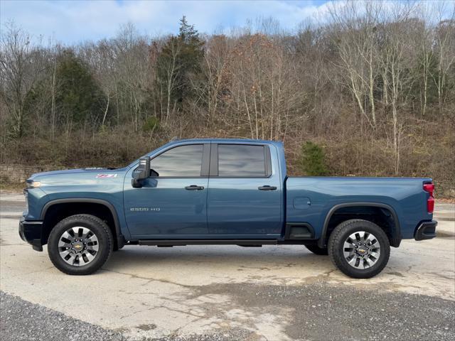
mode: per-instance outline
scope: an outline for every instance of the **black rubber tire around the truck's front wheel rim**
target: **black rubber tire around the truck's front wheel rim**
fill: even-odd
[[[95,257],[85,265],[75,266],[68,264],[62,256],[58,242],[63,234],[73,227],[85,227],[90,229],[97,237],[97,253]],[[109,258],[114,243],[112,242],[112,233],[105,222],[93,215],[72,215],[61,220],[50,231],[48,239],[48,254],[50,261],[60,271],[68,275],[89,275],[100,269]],[[89,255],[90,256],[90,255]]]

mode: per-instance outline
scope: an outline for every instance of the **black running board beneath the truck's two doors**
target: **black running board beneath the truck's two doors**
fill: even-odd
[[[156,247],[183,247],[185,245],[239,245],[240,247],[260,247],[261,245],[277,245],[276,239],[154,239],[139,240],[139,245]]]

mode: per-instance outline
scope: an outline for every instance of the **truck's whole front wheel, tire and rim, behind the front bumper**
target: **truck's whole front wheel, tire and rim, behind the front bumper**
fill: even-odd
[[[69,275],[88,275],[100,269],[112,251],[107,224],[92,215],[72,215],[52,229],[48,239],[50,261]]]

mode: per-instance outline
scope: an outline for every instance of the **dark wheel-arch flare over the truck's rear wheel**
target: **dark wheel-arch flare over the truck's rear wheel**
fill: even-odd
[[[327,213],[326,219],[324,220],[324,224],[322,227],[321,238],[319,238],[318,246],[319,247],[326,247],[326,234],[328,229],[328,222],[330,221],[332,215],[336,210],[344,207],[353,207],[353,206],[365,206],[365,207],[380,207],[384,208],[385,210],[390,211],[392,214],[392,219],[395,222],[395,229],[392,231],[392,239],[390,240],[390,244],[392,247],[398,247],[401,242],[401,228],[400,228],[400,220],[398,220],[397,212],[393,209],[392,206],[383,204],[381,202],[345,202],[343,204],[338,204],[333,206]]]

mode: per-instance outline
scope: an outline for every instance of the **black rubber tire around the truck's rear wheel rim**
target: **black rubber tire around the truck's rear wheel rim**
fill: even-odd
[[[354,265],[350,265],[344,254],[344,243],[348,237],[350,237],[351,234],[355,234],[355,232],[368,232],[368,234],[373,234],[377,240],[375,243],[379,243],[380,253],[378,258],[370,258],[370,261],[373,259],[374,264],[366,267],[365,269],[360,269]],[[357,242],[357,240],[355,242]],[[370,251],[373,250],[373,247],[370,245],[367,245],[367,250],[368,247],[370,247]],[[347,250],[349,251],[350,249]],[[360,249],[352,250],[360,251]],[[363,247],[361,251],[364,251]],[[333,230],[330,238],[328,239],[328,254],[330,255],[333,264],[335,264],[338,269],[343,272],[343,274],[352,278],[371,278],[379,274],[387,265],[387,261],[389,261],[390,257],[390,243],[385,232],[377,224],[369,222],[368,220],[346,220],[346,222],[342,222]],[[366,264],[366,260],[363,260],[363,256],[355,254],[353,258],[351,258],[351,260],[353,260],[353,264],[358,264],[357,259],[359,259],[362,264]],[[361,264],[359,265],[360,267],[363,266]]]

